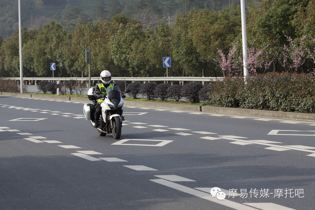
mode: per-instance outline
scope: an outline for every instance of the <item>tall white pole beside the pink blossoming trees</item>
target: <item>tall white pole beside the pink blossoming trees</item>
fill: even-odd
[[[244,69],[244,82],[248,76],[247,69],[247,36],[246,36],[246,17],[245,17],[245,0],[241,0],[241,19],[242,19],[242,41],[243,41],[243,69]]]

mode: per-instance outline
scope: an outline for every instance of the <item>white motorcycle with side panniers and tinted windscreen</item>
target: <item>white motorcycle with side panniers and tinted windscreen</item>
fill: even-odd
[[[95,113],[96,99],[93,96],[94,88],[90,88],[88,91],[88,98],[93,100],[93,104],[84,104],[83,113],[87,120],[92,120]],[[99,92],[99,93],[98,93]],[[101,91],[96,92],[97,94],[102,94]],[[127,89],[122,93],[118,86],[114,88],[106,88],[106,95],[101,98],[104,101],[101,103],[102,115],[100,116],[98,122],[98,133],[100,136],[105,136],[107,133],[112,133],[115,139],[119,139],[121,135],[121,127],[123,124],[123,98],[126,96],[125,93],[129,93],[130,90]]]

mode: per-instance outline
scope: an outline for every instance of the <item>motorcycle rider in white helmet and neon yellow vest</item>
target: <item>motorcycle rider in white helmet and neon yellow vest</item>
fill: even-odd
[[[100,118],[100,115],[102,114],[102,107],[100,104],[104,101],[102,98],[106,95],[106,88],[111,86],[114,88],[115,83],[112,81],[112,74],[111,72],[104,70],[100,72],[100,80],[102,82],[99,82],[95,85],[93,96],[97,99],[95,104],[95,114],[94,114],[94,121],[92,122],[92,126],[94,128],[98,127],[98,120]],[[96,94],[96,91],[101,91],[102,94]]]

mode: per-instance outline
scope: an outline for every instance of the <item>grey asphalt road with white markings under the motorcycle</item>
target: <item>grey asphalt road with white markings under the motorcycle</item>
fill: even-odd
[[[314,209],[315,122],[125,106],[116,140],[83,104],[0,96],[1,210]]]

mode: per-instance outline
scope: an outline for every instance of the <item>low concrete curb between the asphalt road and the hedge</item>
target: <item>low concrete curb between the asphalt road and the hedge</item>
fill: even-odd
[[[20,93],[4,93],[4,92],[2,92],[1,95],[32,97],[32,98],[41,98],[41,99],[70,100],[70,101],[77,101],[77,102],[92,103],[92,101],[89,100],[88,98],[69,97],[69,96],[20,94]],[[144,106],[144,107],[155,107],[155,108],[163,108],[163,109],[179,109],[179,110],[186,110],[186,111],[203,111],[203,112],[212,112],[212,113],[220,113],[220,114],[261,116],[261,117],[315,121],[315,114],[310,114],[310,113],[267,111],[267,110],[255,110],[255,109],[184,105],[184,104],[171,104],[171,103],[146,102],[146,101],[129,101],[129,100],[125,100],[124,104],[129,105],[129,106]]]

